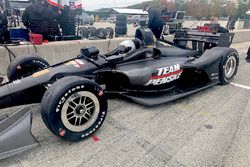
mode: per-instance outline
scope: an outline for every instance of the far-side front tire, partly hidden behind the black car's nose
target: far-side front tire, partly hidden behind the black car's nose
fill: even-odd
[[[19,56],[8,66],[7,76],[9,81],[13,81],[43,70],[49,66],[49,63],[41,57],[32,55]]]

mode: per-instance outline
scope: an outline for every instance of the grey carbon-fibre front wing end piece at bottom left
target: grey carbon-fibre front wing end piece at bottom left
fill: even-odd
[[[32,112],[23,108],[0,119],[0,160],[39,145],[31,134]]]

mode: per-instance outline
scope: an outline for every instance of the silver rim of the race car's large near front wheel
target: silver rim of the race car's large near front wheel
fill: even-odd
[[[61,119],[68,130],[82,132],[95,123],[99,113],[100,103],[97,97],[91,92],[81,91],[66,100]]]

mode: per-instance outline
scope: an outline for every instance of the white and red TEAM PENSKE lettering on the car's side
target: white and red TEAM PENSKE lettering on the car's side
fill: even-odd
[[[156,76],[152,76],[151,79],[146,83],[145,86],[149,85],[163,85],[180,78],[183,70],[179,64],[158,68],[158,73]]]

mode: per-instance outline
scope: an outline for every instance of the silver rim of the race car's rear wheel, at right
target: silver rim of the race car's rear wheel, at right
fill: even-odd
[[[234,75],[236,66],[237,66],[236,58],[234,56],[229,57],[224,66],[224,73],[226,78],[231,78]]]

